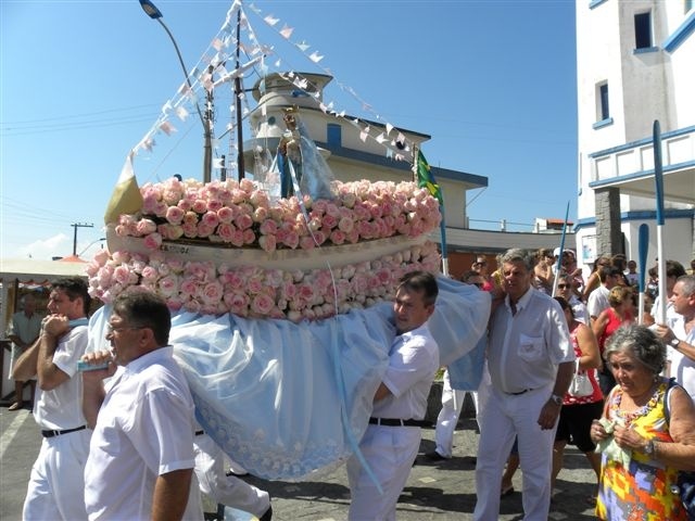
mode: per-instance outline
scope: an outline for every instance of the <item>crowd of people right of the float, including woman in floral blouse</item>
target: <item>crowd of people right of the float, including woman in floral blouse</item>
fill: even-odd
[[[679,473],[695,470],[695,260],[690,275],[680,263],[666,262],[661,297],[655,291],[657,269],[649,269],[653,288],[640,323],[636,263],[622,254],[599,256],[585,281],[571,250],[542,249],[534,258],[508,251],[497,256],[497,267],[488,276],[480,256],[471,265],[493,298],[490,374],[476,401],[480,443],[473,519],[497,518],[500,500],[514,491],[518,467],[523,519],[547,519],[568,444],[584,453],[596,474],[596,494],[587,500],[596,504],[599,519],[647,519],[646,512],[656,512],[648,519],[688,519],[673,485]],[[541,294],[548,307],[534,308]],[[664,361],[649,359],[646,352]],[[569,392],[578,376],[590,385],[580,395]],[[438,434],[453,433],[458,418],[451,406],[457,391],[444,384]],[[679,420],[671,417],[669,424],[664,396],[671,385]],[[438,436],[435,452],[426,456],[440,460],[450,454]]]

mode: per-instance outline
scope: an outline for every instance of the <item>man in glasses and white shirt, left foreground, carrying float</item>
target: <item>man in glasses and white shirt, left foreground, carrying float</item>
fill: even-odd
[[[83,409],[94,430],[84,491],[91,521],[203,517],[200,494],[189,501],[191,488],[198,488],[191,481],[194,407],[167,345],[170,326],[161,297],[121,293],[109,318],[112,352],[83,357],[90,365],[108,363],[106,369],[83,372]]]

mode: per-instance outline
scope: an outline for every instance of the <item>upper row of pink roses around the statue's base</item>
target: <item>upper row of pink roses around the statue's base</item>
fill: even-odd
[[[271,202],[249,179],[203,183],[172,178],[141,187],[142,211],[122,215],[115,232],[144,238],[152,251],[162,241],[188,239],[274,252],[419,237],[441,220],[437,199],[415,182],[333,181],[332,191],[332,200],[304,196],[305,216],[296,196]]]

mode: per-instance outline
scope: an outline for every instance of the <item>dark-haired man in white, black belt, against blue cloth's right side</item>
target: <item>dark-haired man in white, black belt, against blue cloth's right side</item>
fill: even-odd
[[[438,293],[437,279],[424,271],[405,275],[396,290],[396,336],[359,442],[371,474],[356,456],[348,460],[352,499],[348,519],[352,521],[395,520],[396,501],[420,446],[427,398],[439,368],[439,347],[427,327]]]

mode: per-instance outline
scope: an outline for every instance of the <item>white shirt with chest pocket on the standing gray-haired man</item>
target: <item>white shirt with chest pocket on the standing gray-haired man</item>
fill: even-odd
[[[492,385],[519,393],[555,382],[557,366],[574,360],[574,350],[557,301],[533,288],[511,315],[509,297],[495,309],[490,322],[488,368]]]

